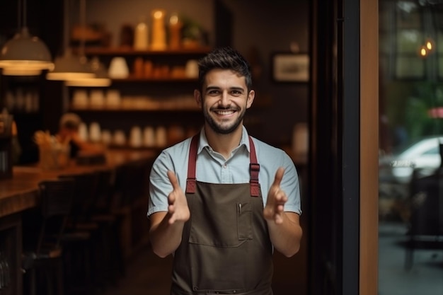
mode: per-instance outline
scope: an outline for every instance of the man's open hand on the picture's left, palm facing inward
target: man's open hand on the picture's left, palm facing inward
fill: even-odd
[[[173,171],[168,170],[168,178],[173,187],[172,192],[168,195],[168,214],[170,215],[168,223],[173,224],[176,221],[188,221],[190,211],[185,193],[180,185],[178,185],[177,176]]]

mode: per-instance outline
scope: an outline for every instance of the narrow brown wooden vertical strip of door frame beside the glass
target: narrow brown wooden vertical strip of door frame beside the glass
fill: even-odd
[[[360,0],[359,294],[378,293],[379,1]]]

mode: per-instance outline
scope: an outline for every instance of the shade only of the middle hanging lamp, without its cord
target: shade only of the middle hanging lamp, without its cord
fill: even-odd
[[[55,59],[54,70],[46,74],[46,79],[68,81],[93,76],[91,69],[88,69],[86,57],[72,55],[70,50],[66,50],[62,57]]]

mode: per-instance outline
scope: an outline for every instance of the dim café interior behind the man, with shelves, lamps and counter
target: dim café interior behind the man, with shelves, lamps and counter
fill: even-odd
[[[161,149],[201,127],[192,96],[195,66],[213,47],[236,47],[251,63],[257,94],[246,115],[248,131],[292,154],[297,129],[299,173],[306,165],[308,1],[18,0],[1,1],[0,11],[2,47],[38,37],[25,51],[46,47],[52,62],[28,71],[4,66],[0,76],[2,115],[14,125],[8,139],[0,138],[1,146],[13,141],[13,156],[2,158],[8,167],[1,170],[1,194],[13,190],[21,199],[19,208],[1,204],[0,250],[10,271],[0,294],[168,292],[171,258],[161,260],[149,248],[147,177]],[[299,76],[271,74],[272,64],[292,56],[304,69]],[[93,79],[60,78],[64,61],[84,66],[82,58],[95,70]],[[81,117],[80,136],[105,146],[104,156],[81,154],[71,163],[63,146],[51,143],[66,112]],[[54,178],[65,181],[50,182]],[[90,210],[71,213],[62,253],[45,253],[54,259],[43,262],[38,200],[69,191],[73,207],[83,200]],[[306,246],[294,258],[276,255],[280,289],[306,293],[305,252]],[[134,277],[144,287],[126,281]]]

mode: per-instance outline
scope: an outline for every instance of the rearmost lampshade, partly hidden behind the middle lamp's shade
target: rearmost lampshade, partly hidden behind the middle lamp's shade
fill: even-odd
[[[87,64],[88,68],[94,76],[86,78],[73,78],[65,82],[67,86],[84,86],[84,87],[108,87],[111,84],[111,79],[108,76],[108,70],[105,65],[100,62],[98,57],[93,57],[91,62]]]

